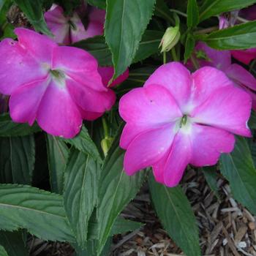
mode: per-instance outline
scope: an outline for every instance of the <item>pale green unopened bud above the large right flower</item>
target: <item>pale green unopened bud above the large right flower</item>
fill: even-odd
[[[177,44],[180,37],[181,33],[179,31],[179,26],[170,26],[168,29],[166,29],[159,45],[159,47],[162,46],[161,53],[164,51],[169,51],[171,48],[173,48]]]

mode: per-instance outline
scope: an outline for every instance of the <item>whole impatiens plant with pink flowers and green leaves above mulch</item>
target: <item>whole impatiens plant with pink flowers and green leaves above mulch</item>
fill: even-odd
[[[115,255],[143,228],[122,214],[140,189],[184,255],[206,255],[192,171],[255,215],[255,8],[1,1],[0,255],[29,255],[31,236]]]

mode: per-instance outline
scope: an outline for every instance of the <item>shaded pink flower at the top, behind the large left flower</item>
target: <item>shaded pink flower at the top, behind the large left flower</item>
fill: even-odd
[[[87,7],[88,26],[85,29],[78,13],[74,12],[72,17],[64,15],[61,7],[53,4],[48,12],[45,12],[45,21],[54,35],[55,42],[68,45],[82,39],[102,35],[105,22],[105,10],[96,7]]]

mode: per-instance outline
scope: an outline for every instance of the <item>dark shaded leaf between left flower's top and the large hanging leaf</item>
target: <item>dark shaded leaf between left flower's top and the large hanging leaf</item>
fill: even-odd
[[[89,51],[99,62],[99,66],[113,66],[112,55],[103,36],[92,37],[73,44],[73,46]]]

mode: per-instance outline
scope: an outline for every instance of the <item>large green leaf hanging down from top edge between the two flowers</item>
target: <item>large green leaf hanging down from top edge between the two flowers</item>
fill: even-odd
[[[154,10],[155,0],[107,0],[105,38],[112,52],[115,75],[121,75],[138,50]]]

